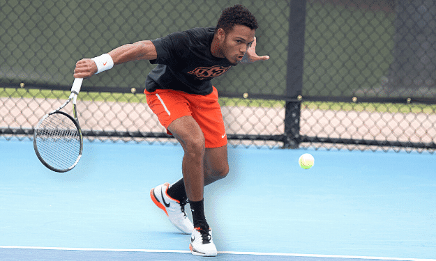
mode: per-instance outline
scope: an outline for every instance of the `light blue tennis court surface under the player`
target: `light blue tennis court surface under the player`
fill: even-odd
[[[306,171],[305,152],[315,157]],[[59,174],[31,141],[0,139],[0,260],[204,260],[149,198],[181,177],[182,155],[85,143]],[[229,161],[205,189],[211,260],[436,258],[436,155],[229,148]]]

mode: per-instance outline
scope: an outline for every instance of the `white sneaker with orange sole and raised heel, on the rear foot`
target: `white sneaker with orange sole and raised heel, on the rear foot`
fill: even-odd
[[[188,219],[185,212],[186,202],[180,203],[179,200],[171,198],[167,194],[170,183],[164,183],[151,189],[150,197],[153,203],[167,214],[171,223],[184,234],[193,232],[193,223]]]

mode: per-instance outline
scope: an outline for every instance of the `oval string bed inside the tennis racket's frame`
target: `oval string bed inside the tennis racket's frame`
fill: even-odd
[[[36,129],[36,145],[44,161],[59,170],[76,164],[80,156],[80,132],[70,118],[53,113]]]

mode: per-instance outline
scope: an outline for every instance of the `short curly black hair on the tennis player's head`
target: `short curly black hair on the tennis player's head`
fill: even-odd
[[[235,24],[247,26],[250,29],[257,29],[256,17],[247,8],[237,4],[232,7],[227,7],[221,13],[216,25],[216,31],[223,29],[226,33],[232,31]]]

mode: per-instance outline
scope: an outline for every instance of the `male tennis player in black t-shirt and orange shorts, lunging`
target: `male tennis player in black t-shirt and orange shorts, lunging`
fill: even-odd
[[[150,196],[176,228],[192,234],[190,251],[194,255],[217,255],[204,216],[203,189],[229,172],[227,136],[211,79],[239,62],[269,59],[255,52],[256,29],[255,16],[236,5],[223,10],[216,27],[123,45],[108,54],[78,61],[74,70],[74,77],[87,78],[128,61],[157,64],[146,78],[144,93],[159,122],[183,147],[183,177],[172,185],[151,189]],[[186,216],[187,201],[193,223]]]

